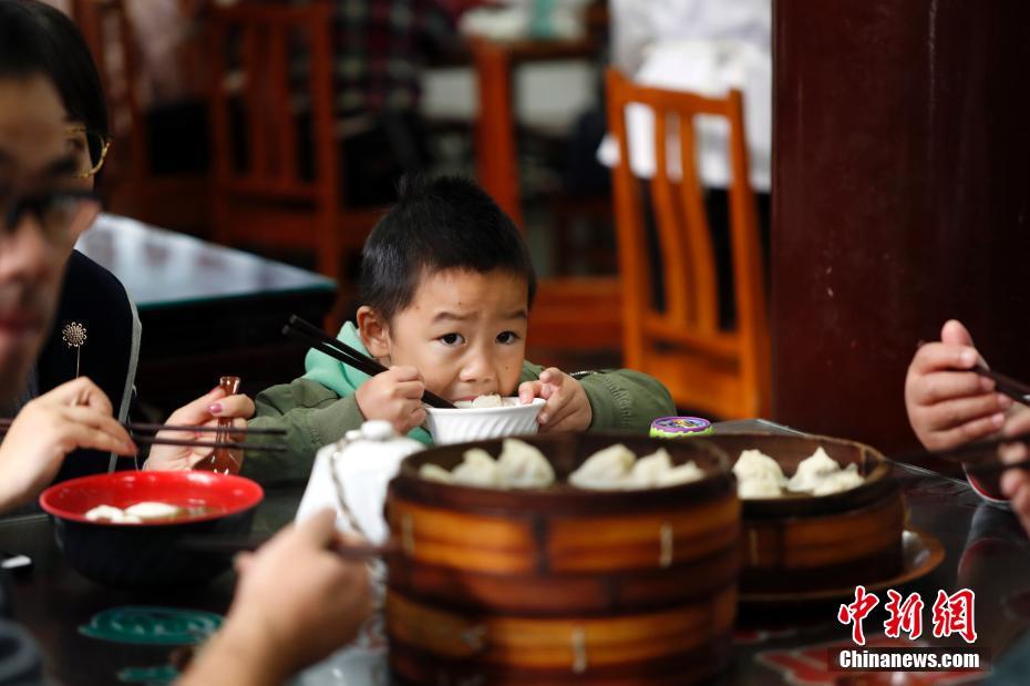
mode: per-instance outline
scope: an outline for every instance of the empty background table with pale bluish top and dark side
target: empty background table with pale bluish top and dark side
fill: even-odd
[[[222,375],[251,396],[303,372],[306,347],[287,340],[291,314],[320,324],[336,283],[323,276],[125,217],[102,215],[79,249],[117,276],[143,324],[136,389],[164,412]]]

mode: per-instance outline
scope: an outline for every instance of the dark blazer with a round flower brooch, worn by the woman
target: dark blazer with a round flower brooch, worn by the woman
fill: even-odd
[[[73,250],[68,263],[53,330],[37,360],[39,392],[75,378],[75,349],[63,340],[65,327],[78,322],[86,339],[79,349],[79,375],[96,383],[125,421],[140,359],[140,318],[125,287],[113,274]],[[96,450],[76,450],[64,459],[56,481],[114,469],[134,469],[130,459],[112,459]],[[142,458],[141,458],[142,460]]]

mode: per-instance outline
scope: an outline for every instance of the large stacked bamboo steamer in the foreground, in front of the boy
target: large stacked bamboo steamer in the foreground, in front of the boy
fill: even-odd
[[[737,614],[740,501],[718,448],[639,436],[522,437],[557,484],[493,490],[419,478],[452,469],[446,446],[405,459],[390,484],[387,629],[400,683],[651,686],[709,679],[725,667]],[[565,483],[621,442],[666,448],[700,481],[642,491]]]

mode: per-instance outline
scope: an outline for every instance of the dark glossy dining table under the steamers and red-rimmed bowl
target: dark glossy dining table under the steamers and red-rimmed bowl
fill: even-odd
[[[731,429],[790,431],[756,420],[715,426],[717,431]],[[1009,512],[983,503],[961,481],[907,465],[899,465],[898,479],[910,526],[937,537],[946,550],[945,561],[935,572],[904,590],[920,592],[926,602],[924,637],[929,635],[928,617],[937,590],[951,593],[969,587],[976,592],[976,647],[989,649],[997,659],[1030,624],[1030,543],[1026,534]],[[268,490],[258,510],[259,532],[267,533],[288,521],[301,492],[300,484]],[[133,595],[100,587],[68,569],[53,543],[49,520],[38,515],[0,522],[0,549],[24,552],[35,560],[32,574],[14,585],[16,618],[42,644],[51,673],[70,686],[112,684],[126,667],[161,666],[167,659],[167,647],[114,644],[80,634],[78,627],[95,613],[126,604],[224,612],[231,595],[231,574],[190,593]],[[883,594],[880,602],[886,602]],[[821,651],[827,644],[847,645],[851,638],[849,627],[837,623],[836,610],[837,604],[830,603],[804,612],[745,614],[738,622],[734,658],[724,683],[832,684],[841,675],[826,674],[825,653]],[[880,605],[865,622],[867,636],[882,633],[883,618]],[[931,638],[925,642],[934,643]],[[802,669],[810,680],[797,680]],[[303,684],[339,683],[331,673],[331,667],[322,665],[309,672]],[[368,680],[368,675],[358,676],[348,684]]]

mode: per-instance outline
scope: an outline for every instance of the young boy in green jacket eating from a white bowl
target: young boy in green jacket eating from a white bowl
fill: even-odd
[[[422,392],[455,401],[487,393],[546,399],[540,431],[634,430],[673,413],[669,391],[629,370],[576,380],[525,360],[536,276],[518,229],[473,182],[402,184],[362,253],[358,326],[340,340],[384,366],[374,377],[310,351],[307,373],[257,399],[251,427],[288,431],[286,457],[247,460],[255,479],[307,478],[319,448],[367,419],[424,443]],[[575,336],[575,331],[569,331]]]

